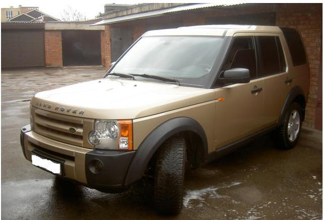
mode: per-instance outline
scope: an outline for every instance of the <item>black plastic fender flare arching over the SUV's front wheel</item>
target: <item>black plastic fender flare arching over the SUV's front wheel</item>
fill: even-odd
[[[202,126],[191,118],[180,117],[170,119],[155,128],[140,144],[130,163],[124,185],[129,185],[139,180],[143,176],[152,155],[157,151],[159,146],[168,138],[184,131],[195,132],[201,137],[203,142],[203,156],[205,157],[208,152],[208,146]]]

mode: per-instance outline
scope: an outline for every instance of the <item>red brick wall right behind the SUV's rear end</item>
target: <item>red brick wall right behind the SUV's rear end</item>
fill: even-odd
[[[304,126],[314,128],[319,62],[322,59],[322,4],[284,4],[277,10],[277,25],[295,28],[301,34],[310,70]],[[322,82],[320,82],[322,83]]]

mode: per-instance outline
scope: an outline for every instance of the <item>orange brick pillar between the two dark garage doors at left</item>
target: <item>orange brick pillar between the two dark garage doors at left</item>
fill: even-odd
[[[63,66],[61,31],[45,31],[44,35],[46,67]]]

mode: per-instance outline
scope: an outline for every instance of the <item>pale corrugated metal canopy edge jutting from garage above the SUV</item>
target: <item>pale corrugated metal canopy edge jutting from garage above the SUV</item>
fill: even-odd
[[[131,20],[136,20],[136,19],[143,19],[143,18],[151,18],[151,17],[156,17],[156,16],[162,16],[168,13],[174,13],[174,12],[181,12],[181,11],[189,11],[189,10],[196,10],[196,9],[203,9],[203,8],[212,8],[212,7],[230,7],[230,6],[236,6],[236,5],[243,5],[246,3],[237,3],[235,2],[234,4],[215,4],[215,3],[207,3],[207,4],[192,4],[192,5],[184,5],[184,6],[178,6],[175,8],[170,8],[170,9],[162,9],[162,10],[155,10],[155,11],[149,11],[149,12],[142,12],[142,13],[136,13],[132,15],[125,15],[125,16],[120,16],[116,18],[111,18],[111,19],[105,19],[102,20],[98,23],[95,23],[93,25],[108,25],[108,24],[113,24],[113,23],[118,23],[118,22],[125,22],[125,21],[131,21]]]

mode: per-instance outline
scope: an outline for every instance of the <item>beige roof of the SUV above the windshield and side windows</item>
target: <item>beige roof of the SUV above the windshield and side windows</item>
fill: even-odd
[[[232,36],[235,33],[282,33],[277,26],[198,25],[175,29],[153,30],[143,36]]]

